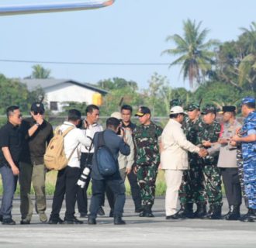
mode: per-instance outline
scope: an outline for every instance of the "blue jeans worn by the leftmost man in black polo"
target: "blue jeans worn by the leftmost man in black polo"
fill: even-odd
[[[0,174],[2,175],[3,187],[0,215],[2,215],[3,219],[10,219],[12,218],[12,200],[16,191],[18,177],[13,175],[12,169],[7,165],[0,167]]]

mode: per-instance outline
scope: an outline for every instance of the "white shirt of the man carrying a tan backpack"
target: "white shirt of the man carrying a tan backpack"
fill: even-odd
[[[74,126],[74,124],[72,124],[71,122],[64,122],[60,126],[60,129],[62,132],[64,132],[71,126]],[[81,153],[79,144],[82,144],[84,146],[90,146],[91,140],[87,136],[85,136],[85,132],[83,132],[83,130],[78,129],[76,128],[76,126],[74,126],[74,129],[72,129],[69,133],[67,133],[66,136],[64,136],[64,151],[67,158],[70,157],[74,148],[77,147],[74,150],[74,153],[72,154],[71,159],[67,164],[69,167],[80,167]]]

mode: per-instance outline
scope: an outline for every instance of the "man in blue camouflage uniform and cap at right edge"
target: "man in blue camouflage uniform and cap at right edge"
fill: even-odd
[[[248,201],[248,212],[240,220],[255,222],[256,220],[256,112],[255,98],[247,97],[242,100],[244,125],[240,135],[232,141],[241,143],[244,171],[244,193]]]

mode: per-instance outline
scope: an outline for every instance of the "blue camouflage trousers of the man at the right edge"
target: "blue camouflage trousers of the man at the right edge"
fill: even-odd
[[[256,157],[244,161],[244,192],[248,207],[256,209]]]

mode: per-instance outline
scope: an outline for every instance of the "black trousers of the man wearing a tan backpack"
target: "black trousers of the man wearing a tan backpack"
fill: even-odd
[[[50,219],[57,219],[60,216],[64,195],[66,195],[65,219],[68,220],[74,217],[74,205],[78,191],[77,182],[79,177],[80,168],[78,167],[67,166],[63,170],[58,171]]]

